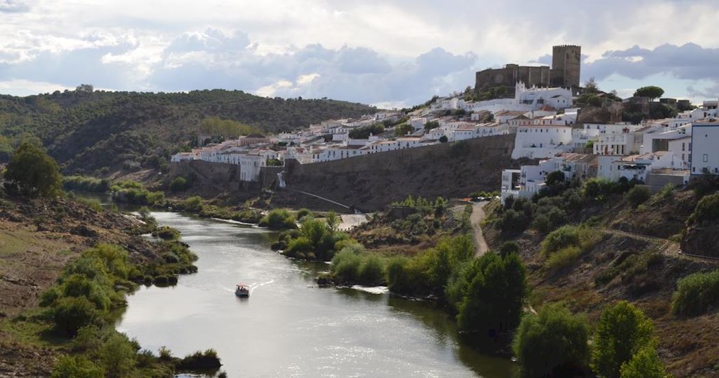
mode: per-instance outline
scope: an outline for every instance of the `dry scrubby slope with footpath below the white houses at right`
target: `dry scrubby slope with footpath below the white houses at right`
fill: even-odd
[[[711,194],[717,189],[666,187],[637,204],[629,201],[632,191],[626,187],[599,194],[590,194],[587,185],[567,187],[536,202],[504,208],[493,202],[482,229],[495,250],[505,242],[518,246],[534,308],[563,302],[595,323],[606,306],[630,301],[654,321],[659,356],[675,377],[713,376],[719,364],[717,307],[687,315],[672,311],[672,301],[679,280],[719,269],[719,261],[710,258],[717,246],[706,242],[714,240],[718,219],[705,216],[694,225],[691,220],[701,207],[697,203],[719,198]],[[542,220],[547,217],[549,225]],[[576,235],[573,242],[570,235]],[[705,242],[695,248],[698,243],[688,240]]]

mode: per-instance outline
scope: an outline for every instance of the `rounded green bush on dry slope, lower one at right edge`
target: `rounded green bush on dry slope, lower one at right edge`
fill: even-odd
[[[719,307],[719,270],[687,275],[677,283],[672,298],[672,312],[697,316]]]

